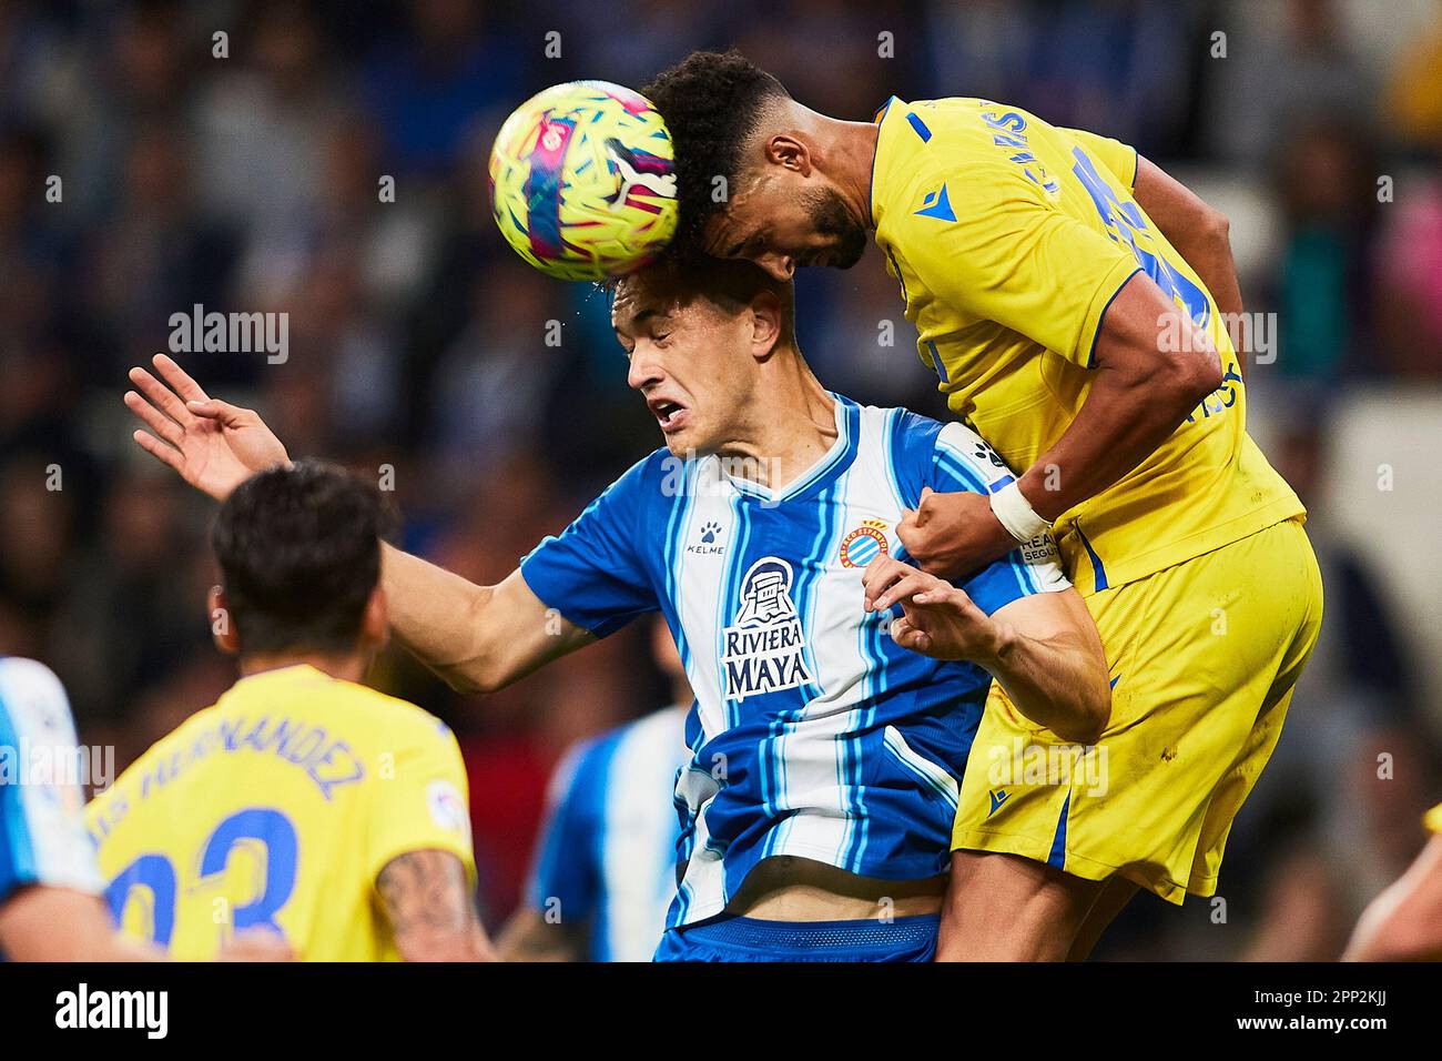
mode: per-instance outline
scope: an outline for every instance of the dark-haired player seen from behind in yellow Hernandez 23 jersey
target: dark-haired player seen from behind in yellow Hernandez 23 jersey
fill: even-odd
[[[359,684],[388,637],[381,504],[274,468],[216,517],[216,644],[241,678],[88,807],[111,915],[173,957],[274,930],[303,960],[474,960],[466,772],[450,730]]]

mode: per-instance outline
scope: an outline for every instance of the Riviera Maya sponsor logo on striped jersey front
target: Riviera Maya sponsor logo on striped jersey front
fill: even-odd
[[[812,680],[806,637],[792,601],[792,566],[786,560],[763,556],[751,564],[741,580],[735,622],[722,637],[728,700],[796,689]]]

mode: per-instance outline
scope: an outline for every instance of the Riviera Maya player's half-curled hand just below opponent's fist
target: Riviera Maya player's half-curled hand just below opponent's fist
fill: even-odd
[[[936,660],[992,660],[1001,651],[1002,629],[949,582],[890,556],[878,556],[861,576],[865,609],[901,605],[891,621],[891,638],[913,652]]]

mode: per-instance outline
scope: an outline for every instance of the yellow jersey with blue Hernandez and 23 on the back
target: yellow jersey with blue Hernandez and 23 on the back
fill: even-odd
[[[476,872],[451,732],[309,665],[236,681],[87,820],[121,930],[187,961],[257,925],[304,960],[395,960],[375,883],[385,865],[438,849]]]

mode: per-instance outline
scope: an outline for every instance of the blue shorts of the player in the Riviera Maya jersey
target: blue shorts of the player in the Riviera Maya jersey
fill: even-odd
[[[884,921],[727,917],[660,937],[656,961],[930,961],[940,914]]]

